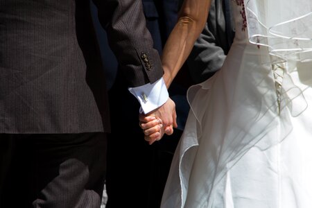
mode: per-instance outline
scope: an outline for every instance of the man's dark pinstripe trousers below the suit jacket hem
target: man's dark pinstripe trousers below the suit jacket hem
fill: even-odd
[[[0,135],[0,207],[101,205],[105,133]]]

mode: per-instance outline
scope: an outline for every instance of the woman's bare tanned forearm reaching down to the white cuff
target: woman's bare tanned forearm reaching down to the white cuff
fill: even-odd
[[[168,88],[202,32],[211,0],[184,0],[177,24],[168,37],[162,53],[164,80]]]

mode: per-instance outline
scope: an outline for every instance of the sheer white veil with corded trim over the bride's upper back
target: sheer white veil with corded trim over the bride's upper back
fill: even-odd
[[[312,1],[244,1],[250,42],[284,61],[312,60]]]

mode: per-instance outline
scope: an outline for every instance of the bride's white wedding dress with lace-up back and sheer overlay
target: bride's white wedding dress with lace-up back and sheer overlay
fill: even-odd
[[[232,1],[234,43],[189,89],[162,208],[312,207],[312,0],[298,1]]]

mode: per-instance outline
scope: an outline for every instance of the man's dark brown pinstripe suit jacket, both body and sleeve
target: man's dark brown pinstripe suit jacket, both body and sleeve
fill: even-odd
[[[161,78],[141,1],[94,3],[130,87]],[[91,22],[89,0],[0,1],[0,133],[110,131]]]

